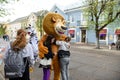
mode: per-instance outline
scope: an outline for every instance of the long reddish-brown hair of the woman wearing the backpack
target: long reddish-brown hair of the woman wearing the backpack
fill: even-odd
[[[19,29],[17,31],[16,40],[11,44],[12,49],[14,51],[19,51],[20,49],[23,49],[26,46],[26,34],[27,33],[24,29]]]

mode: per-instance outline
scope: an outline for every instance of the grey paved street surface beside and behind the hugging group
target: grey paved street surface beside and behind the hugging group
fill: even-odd
[[[71,45],[70,80],[120,80],[119,51],[79,46]],[[42,69],[36,64],[31,80],[42,80],[42,75]]]

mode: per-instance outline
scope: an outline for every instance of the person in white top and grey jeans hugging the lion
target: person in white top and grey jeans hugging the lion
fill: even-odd
[[[65,41],[56,41],[56,45],[59,45],[58,59],[60,62],[62,80],[69,80],[70,40],[70,37],[66,37]]]

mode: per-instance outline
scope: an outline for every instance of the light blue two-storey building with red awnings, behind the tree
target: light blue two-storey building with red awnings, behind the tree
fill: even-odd
[[[52,12],[60,13],[64,16],[66,20],[66,26],[68,27],[67,35],[71,36],[71,42],[80,43],[93,43],[96,44],[96,35],[93,29],[88,29],[87,21],[83,15],[83,6],[81,3],[77,2],[74,5],[70,5],[64,10],[61,10],[57,5],[53,6]],[[100,31],[100,43],[109,45],[111,43],[116,43],[117,39],[120,37],[120,23],[119,21],[114,21]]]

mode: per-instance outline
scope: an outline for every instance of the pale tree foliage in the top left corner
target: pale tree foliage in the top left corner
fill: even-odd
[[[5,6],[11,3],[12,1],[19,1],[19,0],[0,0],[0,17],[8,15],[9,12]]]

